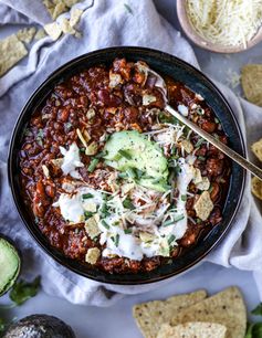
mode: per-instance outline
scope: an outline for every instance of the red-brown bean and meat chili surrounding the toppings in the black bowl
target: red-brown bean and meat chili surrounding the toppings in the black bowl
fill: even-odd
[[[179,106],[186,106],[188,118],[227,144],[221,124],[203,98],[172,78],[165,80],[170,104],[178,110]],[[106,138],[114,131],[153,130],[157,119],[167,118],[164,113],[161,116],[148,114],[148,109],[154,112],[164,107],[161,93],[154,85],[154,80],[136,70],[134,63],[124,59],[115,60],[109,67],[97,65],[56,85],[42,106],[32,114],[20,151],[21,188],[35,223],[51,245],[61,250],[65,256],[85,262],[88,249],[102,247],[97,239],[92,240],[86,234],[84,223],[69,225],[60,209],[53,207],[63,190],[62,181],[72,180],[70,175],[65,177],[59,166],[63,157],[60,147],[69,148],[75,142],[84,165],[78,168],[80,180],[95,189],[111,191],[105,179],[111,175],[111,169],[105,171],[103,161],[97,157],[94,170],[88,170],[93,158],[85,155],[76,130],[86,130],[85,139],[96,145],[96,154],[103,151]],[[154,95],[156,99],[145,106],[142,93]],[[210,181],[209,192],[214,207],[208,220],[198,219],[193,204],[200,192],[193,182],[189,184],[186,203],[188,229],[171,252],[174,258],[196,244],[203,231],[210,231],[219,224],[229,187],[230,162],[224,155],[193,133],[188,139],[195,147],[193,166]],[[178,149],[179,155],[181,151]],[[168,147],[165,152],[171,157]],[[161,256],[144,257],[142,261],[101,256],[94,265],[108,273],[137,273],[151,271],[168,260]]]

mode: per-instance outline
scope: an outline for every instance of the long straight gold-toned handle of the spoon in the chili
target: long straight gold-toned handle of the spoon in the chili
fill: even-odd
[[[239,155],[238,152],[226,146],[223,142],[221,142],[220,140],[218,140],[217,138],[214,138],[213,136],[201,129],[198,125],[196,125],[185,116],[180,115],[171,106],[166,105],[165,109],[169,112],[172,116],[175,116],[177,119],[179,119],[182,124],[185,124],[190,129],[192,129],[195,133],[200,135],[203,139],[209,141],[219,150],[221,150],[223,154],[226,154],[228,157],[230,157],[233,161],[239,163],[242,168],[249,170],[251,173],[253,173],[254,176],[256,176],[259,179],[262,180],[262,169],[248,161],[241,155]]]

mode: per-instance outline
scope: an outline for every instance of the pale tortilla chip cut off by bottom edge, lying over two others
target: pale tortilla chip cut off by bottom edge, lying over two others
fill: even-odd
[[[216,323],[185,323],[177,326],[164,324],[157,338],[224,338],[227,327]]]

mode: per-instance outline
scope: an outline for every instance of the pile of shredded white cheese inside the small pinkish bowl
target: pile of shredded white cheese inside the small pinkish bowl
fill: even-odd
[[[213,44],[247,47],[262,24],[262,0],[187,0],[196,32]]]

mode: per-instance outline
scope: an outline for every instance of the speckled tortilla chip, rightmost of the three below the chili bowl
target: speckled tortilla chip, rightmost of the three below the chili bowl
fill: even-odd
[[[247,309],[240,291],[229,287],[195,304],[171,319],[171,325],[188,321],[218,323],[227,327],[227,338],[243,338],[247,329]]]

